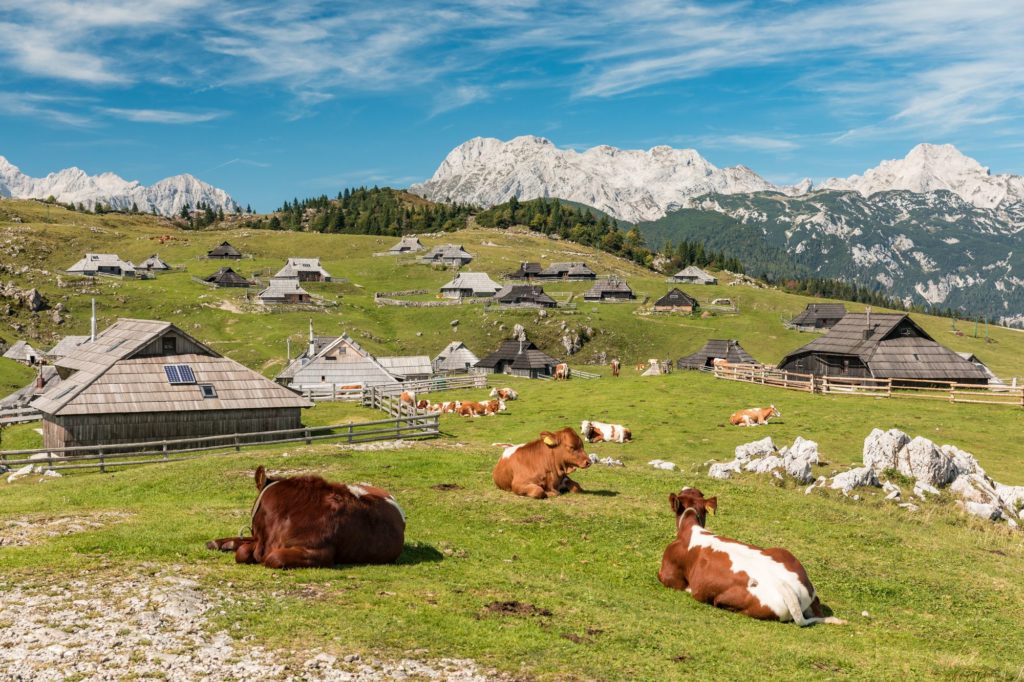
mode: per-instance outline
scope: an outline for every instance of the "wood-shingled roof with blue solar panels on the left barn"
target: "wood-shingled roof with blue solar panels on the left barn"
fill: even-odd
[[[172,332],[194,352],[148,354],[147,348]],[[145,353],[142,351],[146,350]],[[187,365],[194,382],[170,383],[166,366]],[[54,366],[65,377],[55,391],[32,407],[44,415],[308,408],[308,400],[265,377],[223,357],[170,323],[119,319]],[[215,397],[198,386],[210,384]]]

